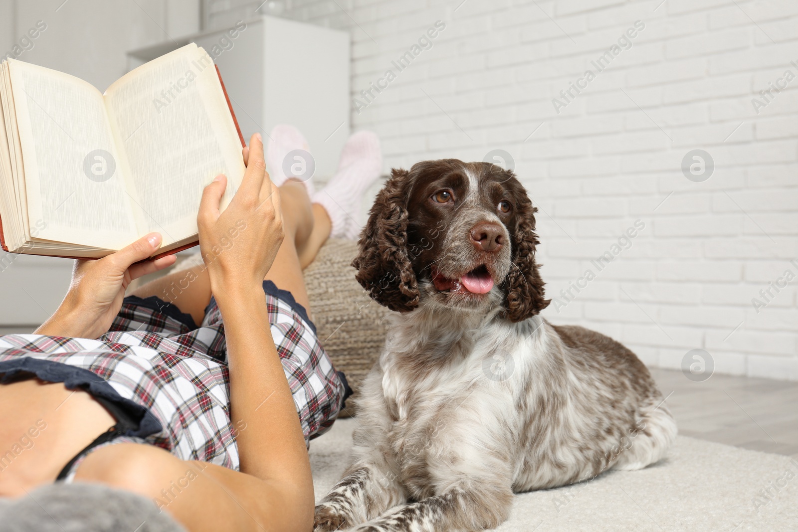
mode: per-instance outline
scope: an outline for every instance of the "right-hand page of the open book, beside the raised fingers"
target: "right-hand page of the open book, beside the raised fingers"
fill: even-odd
[[[196,234],[203,188],[219,174],[228,178],[227,207],[245,169],[242,146],[203,49],[184,46],[140,66],[105,91],[105,102],[140,234],[159,231],[164,247]]]

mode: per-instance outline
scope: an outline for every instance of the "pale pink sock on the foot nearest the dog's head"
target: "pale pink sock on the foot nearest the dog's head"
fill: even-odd
[[[358,238],[363,194],[382,171],[380,140],[370,131],[350,136],[341,152],[338,171],[330,183],[312,196],[313,203],[325,208],[332,221],[333,238]]]

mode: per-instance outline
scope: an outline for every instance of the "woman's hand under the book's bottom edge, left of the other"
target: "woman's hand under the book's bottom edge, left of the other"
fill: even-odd
[[[152,256],[160,242],[159,233],[150,233],[96,261],[75,261],[64,301],[35,332],[76,338],[97,338],[107,332],[130,282],[175,263],[175,255],[168,255],[135,264]]]

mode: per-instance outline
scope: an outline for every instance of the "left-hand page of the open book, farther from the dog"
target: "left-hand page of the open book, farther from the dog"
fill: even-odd
[[[132,242],[136,223],[99,91],[41,66],[9,67],[38,238],[112,250]]]

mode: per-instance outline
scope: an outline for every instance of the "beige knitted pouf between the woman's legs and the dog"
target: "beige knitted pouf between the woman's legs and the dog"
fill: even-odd
[[[346,374],[354,397],[385,344],[384,318],[390,312],[355,280],[351,263],[357,253],[357,242],[330,238],[304,272],[318,339],[335,368]],[[340,417],[353,415],[350,398]]]

